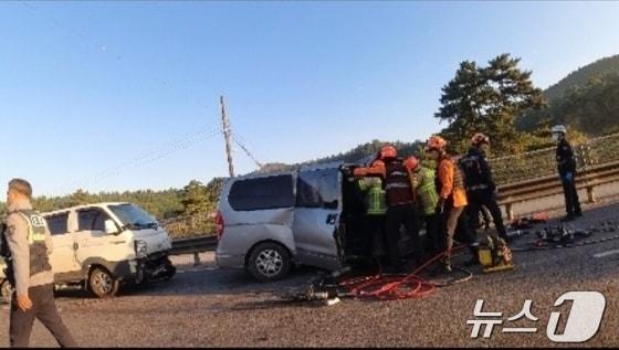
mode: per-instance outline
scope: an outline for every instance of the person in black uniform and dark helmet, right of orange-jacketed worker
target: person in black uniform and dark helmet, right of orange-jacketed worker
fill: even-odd
[[[492,179],[492,170],[486,161],[486,149],[490,138],[483,134],[475,134],[471,140],[469,152],[460,160],[464,171],[466,198],[469,199],[469,220],[471,230],[480,226],[480,211],[487,209],[494,221],[499,235],[510,241],[503,223],[501,208],[496,203],[496,184]]]

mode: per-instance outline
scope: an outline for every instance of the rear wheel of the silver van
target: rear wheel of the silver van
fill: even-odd
[[[284,278],[291,268],[288,251],[277,243],[266,242],[255,246],[248,261],[248,272],[260,282]]]

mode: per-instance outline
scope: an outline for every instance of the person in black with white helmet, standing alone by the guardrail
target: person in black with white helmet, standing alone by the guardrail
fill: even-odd
[[[552,129],[553,140],[557,142],[557,170],[565,194],[565,211],[567,216],[563,221],[573,221],[575,216],[583,216],[578,191],[576,190],[576,159],[571,145],[566,139],[567,129],[563,125]]]

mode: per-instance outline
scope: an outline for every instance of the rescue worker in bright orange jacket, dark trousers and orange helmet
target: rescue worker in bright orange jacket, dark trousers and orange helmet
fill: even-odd
[[[441,215],[441,231],[445,240],[443,264],[445,271],[451,272],[451,255],[457,230],[459,241],[469,245],[473,255],[471,261],[473,263],[479,261],[479,243],[469,227],[464,212],[468,205],[464,179],[457,163],[447,152],[447,145],[448,142],[443,138],[432,136],[428,139],[426,150],[428,158],[438,161],[437,191],[439,192],[439,205],[437,212]]]

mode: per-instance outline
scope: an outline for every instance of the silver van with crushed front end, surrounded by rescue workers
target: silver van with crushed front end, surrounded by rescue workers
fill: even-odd
[[[368,240],[364,198],[347,176],[355,167],[229,179],[216,219],[218,266],[244,268],[267,282],[285,277],[295,264],[337,271],[367,258],[359,250]]]

